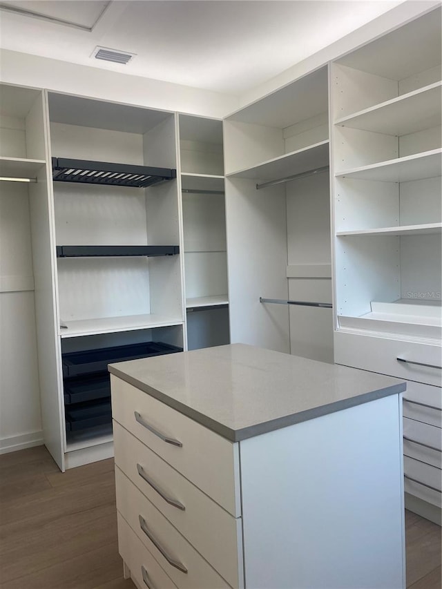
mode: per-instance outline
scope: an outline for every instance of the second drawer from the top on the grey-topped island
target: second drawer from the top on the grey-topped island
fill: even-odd
[[[241,519],[222,509],[115,421],[113,440],[115,465],[232,587],[244,586]],[[179,504],[171,504],[175,501]]]

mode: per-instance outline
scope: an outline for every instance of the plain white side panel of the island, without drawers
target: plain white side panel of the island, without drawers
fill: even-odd
[[[405,588],[400,403],[240,442],[247,586]]]

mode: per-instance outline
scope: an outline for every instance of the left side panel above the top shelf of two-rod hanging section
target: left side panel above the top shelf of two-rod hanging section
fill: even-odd
[[[224,121],[225,173],[251,168],[285,153],[282,129]]]

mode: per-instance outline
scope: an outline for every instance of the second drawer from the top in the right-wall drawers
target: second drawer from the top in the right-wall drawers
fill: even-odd
[[[442,427],[442,389],[408,382],[403,394],[403,415],[434,427]]]

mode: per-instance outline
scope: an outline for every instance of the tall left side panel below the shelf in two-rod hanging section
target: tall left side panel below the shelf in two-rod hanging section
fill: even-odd
[[[227,265],[231,342],[289,351],[285,187],[256,190],[253,180],[226,179]]]

